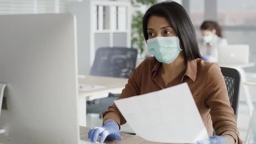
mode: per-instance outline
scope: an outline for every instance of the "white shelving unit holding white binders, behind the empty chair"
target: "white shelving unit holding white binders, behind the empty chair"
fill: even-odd
[[[118,0],[83,0],[70,4],[76,16],[78,69],[88,75],[99,47],[131,47],[131,3]]]

